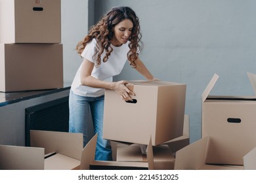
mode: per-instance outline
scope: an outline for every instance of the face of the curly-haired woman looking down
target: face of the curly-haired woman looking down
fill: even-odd
[[[113,28],[114,36],[111,40],[111,43],[114,46],[121,46],[121,44],[125,44],[131,36],[132,29],[133,22],[131,22],[131,20],[125,19],[119,22],[119,24]]]

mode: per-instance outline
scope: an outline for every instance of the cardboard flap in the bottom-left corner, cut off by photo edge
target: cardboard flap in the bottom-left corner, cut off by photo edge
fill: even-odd
[[[1,170],[43,170],[44,161],[43,148],[0,145]]]

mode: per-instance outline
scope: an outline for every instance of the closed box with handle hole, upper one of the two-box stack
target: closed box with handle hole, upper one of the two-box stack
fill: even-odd
[[[0,0],[1,43],[60,43],[60,0]]]

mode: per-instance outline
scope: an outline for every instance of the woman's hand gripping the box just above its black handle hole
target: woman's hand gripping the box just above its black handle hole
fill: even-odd
[[[125,86],[125,84],[128,84],[128,83],[129,82],[125,80],[114,82],[113,90],[117,94],[119,94],[121,96],[121,99],[123,99],[124,101],[132,101],[133,99],[131,98],[131,95],[135,95],[133,91],[129,90],[129,88]]]

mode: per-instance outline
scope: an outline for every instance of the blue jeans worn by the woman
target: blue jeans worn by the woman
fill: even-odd
[[[112,161],[110,141],[102,138],[104,95],[100,97],[83,97],[70,90],[70,129],[71,133],[83,133],[83,146],[89,142],[90,110],[94,133],[98,133],[95,160]]]

